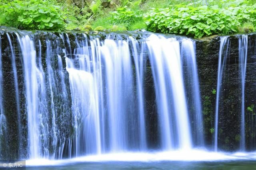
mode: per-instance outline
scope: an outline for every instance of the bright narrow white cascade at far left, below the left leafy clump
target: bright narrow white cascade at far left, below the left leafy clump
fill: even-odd
[[[42,117],[38,106],[38,97],[40,97],[38,95],[38,87],[40,84],[43,84],[42,72],[36,67],[36,50],[33,39],[29,35],[24,35],[22,37],[18,36],[18,41],[22,49],[24,64],[26,109],[28,115],[28,147],[30,158],[38,158],[41,154],[40,130],[38,126],[40,125],[40,117]]]

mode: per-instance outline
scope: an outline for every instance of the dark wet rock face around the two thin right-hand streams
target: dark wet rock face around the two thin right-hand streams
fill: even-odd
[[[228,37],[230,47],[224,75],[222,78],[222,90],[219,100],[218,118],[218,148],[220,150],[238,150],[240,146],[240,122],[241,122],[241,71],[239,67],[238,40],[241,35]],[[245,84],[245,131],[246,150],[254,150],[255,145],[255,109],[256,104],[256,34],[248,35],[248,56],[246,65]],[[214,121],[216,107],[218,55],[220,49],[220,37],[196,41],[196,56],[198,64],[199,82],[202,96],[202,109],[204,114],[204,135],[208,146],[213,146]],[[249,111],[249,108],[252,111]]]

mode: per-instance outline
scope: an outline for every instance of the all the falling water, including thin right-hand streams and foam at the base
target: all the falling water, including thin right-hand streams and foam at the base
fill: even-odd
[[[30,166],[40,161],[68,162],[81,168],[87,163],[75,162],[242,159],[241,155],[206,150],[192,39],[141,32],[87,35],[18,30],[1,36],[8,43],[3,46],[0,41],[0,57],[7,55],[11,63],[3,68],[5,60],[0,61],[1,158],[8,152],[4,136],[8,126],[12,127],[5,113],[9,107],[3,105],[8,96],[2,89],[10,76],[15,104],[10,107],[17,117],[18,135],[13,143],[18,146],[17,158],[28,159]],[[247,41],[246,36],[239,41],[241,150],[245,149]],[[218,150],[219,103],[229,46],[229,38],[221,37],[214,151]],[[3,55],[1,47],[5,47]],[[147,169],[148,165],[139,167]]]

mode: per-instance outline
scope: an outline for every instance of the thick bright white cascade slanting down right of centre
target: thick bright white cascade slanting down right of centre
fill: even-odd
[[[166,39],[156,35],[151,35],[146,43],[156,89],[162,149],[175,148],[177,140],[175,133],[178,136],[176,144],[178,148],[191,149],[192,139],[184,90],[180,44],[175,38]],[[176,122],[172,120],[172,117]]]

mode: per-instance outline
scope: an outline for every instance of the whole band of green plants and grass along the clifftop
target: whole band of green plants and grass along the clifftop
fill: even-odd
[[[113,0],[1,0],[0,25],[84,31],[102,26],[109,31],[147,29],[195,38],[248,33],[256,28],[255,0],[120,0],[111,8],[110,2]]]

